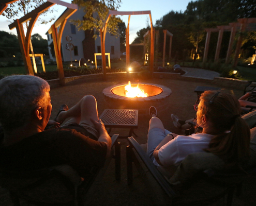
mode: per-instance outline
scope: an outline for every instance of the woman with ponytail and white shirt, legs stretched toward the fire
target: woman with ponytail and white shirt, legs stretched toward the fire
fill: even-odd
[[[152,118],[147,153],[154,164],[178,166],[190,153],[212,152],[228,167],[243,166],[250,157],[250,130],[240,117],[238,100],[220,91],[206,91],[201,95],[200,104],[194,107],[197,124],[203,131],[189,136],[165,130],[156,109],[149,109]]]

